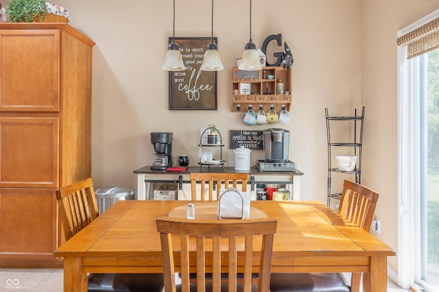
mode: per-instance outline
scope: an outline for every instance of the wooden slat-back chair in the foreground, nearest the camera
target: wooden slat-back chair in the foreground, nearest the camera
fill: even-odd
[[[158,217],[156,224],[161,239],[165,292],[176,292],[176,289],[182,292],[269,291],[277,225],[275,219],[189,220]],[[256,252],[253,250],[255,236],[262,239],[261,245],[256,244],[260,246],[257,251],[261,254],[257,285],[252,284],[252,269],[258,265],[252,263],[253,253]],[[178,239],[180,244],[173,244],[174,239]],[[180,258],[174,258],[177,255]],[[181,284],[176,284],[174,263],[181,267]],[[197,282],[193,283],[189,274],[195,271]],[[226,279],[222,278],[222,271],[228,271]],[[242,282],[237,281],[238,273],[244,274]],[[206,274],[213,275],[211,281],[206,281]]]

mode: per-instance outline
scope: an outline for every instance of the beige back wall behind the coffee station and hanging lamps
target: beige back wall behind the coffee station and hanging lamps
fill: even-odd
[[[176,36],[210,36],[210,1],[176,1]],[[161,70],[172,34],[172,1],[57,1],[71,25],[96,42],[93,72],[93,179],[134,187],[133,170],[154,159],[150,132],[174,133],[174,155],[198,159],[200,128],[215,124],[228,144],[230,129],[264,129],[230,111],[235,59],[248,42],[249,1],[215,1],[214,35],[226,68],[218,73],[217,111],[169,111],[168,73]],[[361,105],[361,2],[253,1],[252,39],[283,34],[294,54],[290,159],[305,172],[305,199],[326,200],[324,107],[351,114]],[[276,49],[276,51],[278,51]],[[272,50],[274,53],[274,49]],[[233,151],[225,149],[228,165]],[[252,151],[252,163],[262,158]]]

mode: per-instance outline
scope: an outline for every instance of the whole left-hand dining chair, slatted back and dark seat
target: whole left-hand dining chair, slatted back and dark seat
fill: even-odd
[[[83,181],[66,185],[56,190],[56,200],[64,230],[64,239],[68,241],[80,230],[99,217],[99,209],[93,181]],[[163,274],[89,274],[88,291],[94,292],[161,292]]]

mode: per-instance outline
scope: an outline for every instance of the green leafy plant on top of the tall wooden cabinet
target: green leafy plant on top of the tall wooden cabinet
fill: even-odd
[[[13,23],[32,23],[39,14],[45,18],[47,6],[45,0],[11,0],[6,11]]]

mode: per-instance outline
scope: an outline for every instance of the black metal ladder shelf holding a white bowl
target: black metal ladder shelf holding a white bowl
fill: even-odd
[[[331,190],[331,179],[333,172],[339,172],[343,174],[354,174],[355,182],[361,183],[361,150],[363,146],[363,124],[364,124],[364,107],[361,111],[361,116],[357,116],[357,109],[355,109],[354,116],[329,116],[328,108],[324,109],[324,113],[327,119],[327,137],[328,137],[328,196],[327,205],[331,207],[331,198],[340,200],[342,193],[334,192]],[[331,141],[331,123],[337,121],[353,122],[353,140],[351,142],[332,142]],[[354,170],[346,171],[333,167],[332,151],[333,148],[338,147],[351,147],[353,148],[353,155],[357,155],[357,164]],[[337,154],[337,153],[335,153]]]

